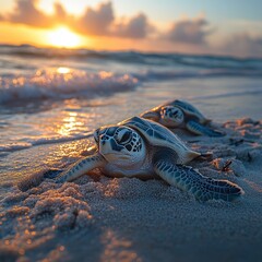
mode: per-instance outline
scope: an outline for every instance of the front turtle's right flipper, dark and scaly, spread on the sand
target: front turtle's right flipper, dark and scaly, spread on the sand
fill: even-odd
[[[243,194],[243,190],[233,182],[204,177],[192,167],[175,165],[171,160],[158,160],[154,169],[165,181],[192,193],[199,201],[234,201]]]

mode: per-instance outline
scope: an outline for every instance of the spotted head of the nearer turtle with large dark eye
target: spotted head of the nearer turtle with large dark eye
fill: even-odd
[[[99,153],[111,164],[132,166],[143,162],[146,148],[141,135],[131,128],[114,126],[97,129],[94,133]]]

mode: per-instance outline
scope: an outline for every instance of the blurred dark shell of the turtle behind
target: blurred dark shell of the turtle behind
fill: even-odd
[[[170,103],[165,104],[164,106],[176,106],[179,107],[187,116],[192,116],[198,118],[200,123],[207,123],[211,120],[205,118],[202,112],[200,112],[194,106],[192,106],[191,104],[183,102],[183,100],[174,100]]]

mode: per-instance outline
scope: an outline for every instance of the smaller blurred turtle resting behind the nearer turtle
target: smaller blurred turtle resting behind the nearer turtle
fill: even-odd
[[[186,129],[198,135],[224,135],[222,132],[206,127],[211,120],[206,119],[194,106],[178,99],[155,107],[142,114],[141,117],[159,122],[170,129]]]

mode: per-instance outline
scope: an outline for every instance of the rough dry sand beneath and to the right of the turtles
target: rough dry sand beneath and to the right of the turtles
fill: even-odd
[[[242,187],[238,201],[199,203],[162,180],[98,174],[27,191],[7,183],[0,261],[262,261],[262,122],[217,127],[227,135],[180,135],[213,153],[191,165]]]

